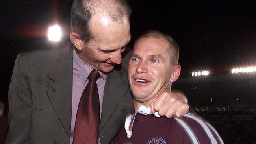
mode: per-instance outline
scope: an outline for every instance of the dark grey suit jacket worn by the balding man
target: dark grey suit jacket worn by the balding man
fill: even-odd
[[[126,116],[133,112],[127,79],[129,56],[126,54],[106,79],[102,144],[113,143]],[[70,143],[72,72],[72,45],[18,55],[8,94],[10,130],[6,144]]]

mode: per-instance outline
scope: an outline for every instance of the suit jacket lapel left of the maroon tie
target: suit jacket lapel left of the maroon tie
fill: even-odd
[[[54,67],[48,74],[48,78],[54,84],[47,90],[48,98],[69,138],[72,111],[72,59],[72,48],[68,46],[62,50]]]

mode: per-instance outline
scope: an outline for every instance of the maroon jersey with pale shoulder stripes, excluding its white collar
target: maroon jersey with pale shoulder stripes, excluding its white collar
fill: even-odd
[[[183,118],[156,117],[136,114],[132,137],[127,138],[124,127],[115,144],[223,144],[217,131],[193,114]]]

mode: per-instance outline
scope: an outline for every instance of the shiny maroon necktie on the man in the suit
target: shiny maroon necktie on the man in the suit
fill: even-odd
[[[89,74],[89,83],[83,90],[76,114],[73,144],[98,144],[100,126],[100,102],[97,70]]]

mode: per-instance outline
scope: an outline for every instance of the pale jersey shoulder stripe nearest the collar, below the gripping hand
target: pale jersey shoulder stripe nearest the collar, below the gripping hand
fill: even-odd
[[[180,124],[180,126],[184,129],[184,131],[186,131],[186,133],[189,136],[189,139],[191,140],[191,142],[193,144],[199,144],[195,134],[192,132],[193,130],[188,126],[188,124],[186,122],[184,122],[183,120],[178,119],[178,118],[175,118],[175,120],[178,122],[178,124]]]

